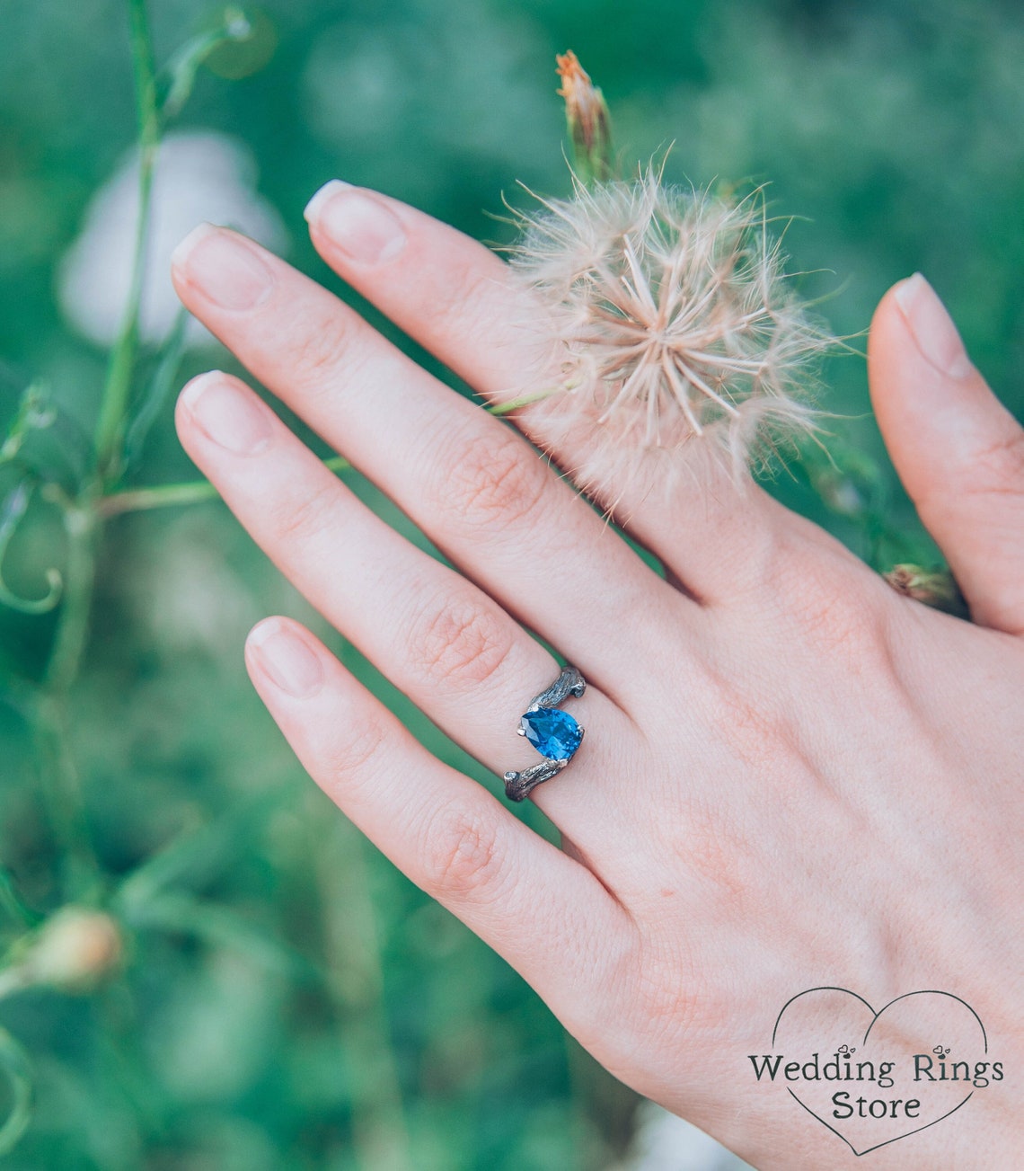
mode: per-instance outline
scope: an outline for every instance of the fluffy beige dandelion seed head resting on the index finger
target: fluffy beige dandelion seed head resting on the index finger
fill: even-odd
[[[783,272],[755,192],[729,201],[632,183],[542,200],[521,215],[513,269],[538,299],[562,389],[531,415],[607,498],[624,478],[679,470],[680,452],[747,465],[813,429],[809,391],[833,338]]]

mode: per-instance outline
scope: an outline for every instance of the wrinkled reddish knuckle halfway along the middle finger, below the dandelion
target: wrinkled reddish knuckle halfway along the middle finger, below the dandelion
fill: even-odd
[[[441,467],[441,506],[472,529],[503,529],[527,520],[549,482],[542,461],[504,427],[487,439],[474,436],[460,443]]]

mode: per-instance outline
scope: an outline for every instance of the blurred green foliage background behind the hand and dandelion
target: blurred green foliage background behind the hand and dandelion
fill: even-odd
[[[224,18],[207,0],[150,7],[158,64]],[[248,16],[253,35],[200,69],[170,128],[190,137],[158,170],[132,379],[154,420],[122,488],[195,478],[173,395],[147,390],[173,323],[166,252],[192,222],[250,225],[346,297],[301,218],[328,178],[507,240],[495,217],[503,196],[525,201],[516,180],[568,190],[554,56],[569,47],[605,91],[626,170],[674,144],[669,178],[770,180],[772,208],[799,217],[791,268],[838,334],[861,334],[882,292],[923,271],[1024,410],[1015,0],[272,0]],[[15,427],[0,453],[0,546],[6,586],[33,598],[50,567],[91,580],[68,564],[67,506],[125,287],[131,185],[111,177],[135,98],[124,4],[0,0],[0,437],[33,383],[48,424]],[[171,390],[209,365],[232,361],[190,334]],[[878,466],[817,491],[797,470],[776,491],[859,552],[870,534],[848,501],[871,497],[916,546],[864,362],[825,374],[824,405],[848,417],[837,436]],[[309,622],[433,749],[496,780],[325,630],[218,502],[111,515],[87,553],[88,642],[66,678],[62,607],[0,605],[0,1118],[30,1110],[4,1165],[616,1165],[634,1096],[303,776],[246,678],[247,629],[273,611]],[[71,593],[62,605],[89,601]],[[121,933],[88,992],[46,986],[32,952],[67,904],[105,909]],[[50,924],[60,961],[104,966],[95,922],[74,938]]]

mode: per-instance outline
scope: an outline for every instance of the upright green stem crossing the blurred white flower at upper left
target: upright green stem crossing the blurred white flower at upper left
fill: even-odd
[[[99,416],[96,423],[96,468],[104,484],[111,484],[121,473],[125,416],[138,352],[139,306],[145,275],[153,169],[160,142],[157,75],[146,5],[145,0],[128,0],[128,5],[138,116],[138,221],[136,224],[131,287],[121,331],[110,355],[110,365],[106,371],[106,382],[103,386]]]

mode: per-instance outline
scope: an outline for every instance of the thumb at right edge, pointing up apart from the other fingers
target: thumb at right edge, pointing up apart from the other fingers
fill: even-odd
[[[920,274],[874,315],[871,396],[893,464],[975,622],[1024,632],[1024,430]]]

